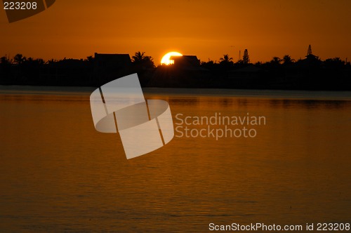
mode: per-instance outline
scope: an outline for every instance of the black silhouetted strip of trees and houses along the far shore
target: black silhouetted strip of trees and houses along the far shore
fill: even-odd
[[[256,88],[287,90],[351,91],[350,62],[340,58],[321,60],[309,46],[304,59],[290,55],[268,62],[250,62],[249,52],[237,62],[229,54],[219,62],[200,62],[194,55],[175,60],[173,65],[155,67],[145,52],[98,54],[86,59],[43,60],[0,58],[0,85],[101,86],[118,77],[138,73],[142,86],[172,88]]]

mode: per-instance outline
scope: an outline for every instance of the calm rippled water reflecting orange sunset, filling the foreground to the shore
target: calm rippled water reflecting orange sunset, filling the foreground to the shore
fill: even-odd
[[[175,137],[126,160],[119,135],[95,131],[91,91],[0,88],[1,232],[350,222],[350,92],[144,89],[175,123],[220,113],[266,124],[254,138]]]

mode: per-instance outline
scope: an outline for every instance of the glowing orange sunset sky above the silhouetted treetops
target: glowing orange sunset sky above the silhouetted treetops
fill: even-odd
[[[351,1],[58,0],[46,11],[8,23],[0,9],[0,56],[86,58],[145,51],[159,65],[168,51],[251,62],[273,56],[351,60]]]

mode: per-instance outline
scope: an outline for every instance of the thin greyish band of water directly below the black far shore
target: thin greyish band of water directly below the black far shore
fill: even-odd
[[[91,86],[4,86],[0,95],[90,95],[96,87]],[[274,89],[229,89],[229,88],[155,88],[143,87],[145,98],[154,95],[204,98],[265,98],[293,100],[345,100],[351,101],[351,91],[309,91]]]

